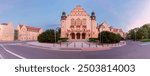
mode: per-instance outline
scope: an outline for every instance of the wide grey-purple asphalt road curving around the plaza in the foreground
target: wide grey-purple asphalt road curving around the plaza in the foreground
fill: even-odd
[[[150,59],[150,45],[127,41],[127,45],[105,51],[56,51],[24,45],[0,43],[1,59]],[[19,45],[21,44],[21,45]]]

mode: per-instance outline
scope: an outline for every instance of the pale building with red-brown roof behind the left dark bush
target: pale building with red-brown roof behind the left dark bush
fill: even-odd
[[[26,26],[26,25],[18,25],[18,40],[26,41],[26,40],[37,40],[39,34],[43,32],[41,28]]]

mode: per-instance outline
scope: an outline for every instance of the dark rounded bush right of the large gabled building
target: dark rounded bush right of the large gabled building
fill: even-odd
[[[98,39],[101,43],[119,43],[121,41],[121,36],[120,34],[103,31],[99,33]]]

